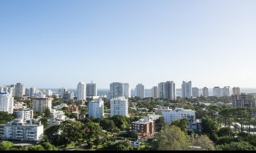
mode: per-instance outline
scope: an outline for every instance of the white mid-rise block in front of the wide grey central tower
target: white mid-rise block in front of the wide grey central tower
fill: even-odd
[[[113,115],[128,115],[128,99],[125,97],[114,98],[110,100],[110,117]]]

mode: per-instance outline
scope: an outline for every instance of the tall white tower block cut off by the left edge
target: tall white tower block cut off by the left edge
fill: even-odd
[[[13,113],[13,97],[8,92],[0,92],[0,112]]]

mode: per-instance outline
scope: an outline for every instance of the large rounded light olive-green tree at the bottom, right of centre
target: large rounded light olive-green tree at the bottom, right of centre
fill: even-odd
[[[176,126],[167,126],[157,133],[157,150],[188,150],[186,134]]]

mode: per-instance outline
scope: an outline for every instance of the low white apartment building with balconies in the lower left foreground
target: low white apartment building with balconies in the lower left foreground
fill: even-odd
[[[0,124],[0,138],[8,141],[40,142],[44,125],[38,120],[15,119]]]

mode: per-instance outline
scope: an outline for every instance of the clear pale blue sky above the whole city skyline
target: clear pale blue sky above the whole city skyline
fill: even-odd
[[[256,87],[255,0],[1,0],[0,86]]]

